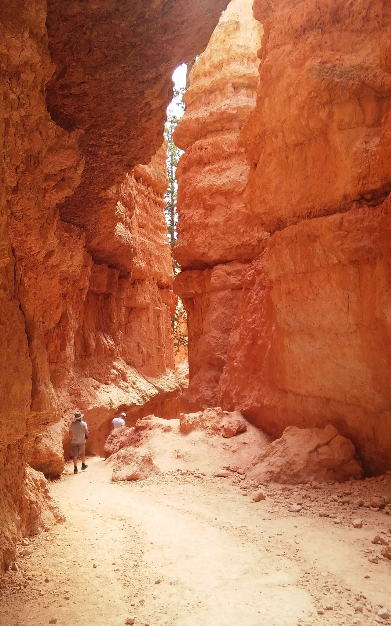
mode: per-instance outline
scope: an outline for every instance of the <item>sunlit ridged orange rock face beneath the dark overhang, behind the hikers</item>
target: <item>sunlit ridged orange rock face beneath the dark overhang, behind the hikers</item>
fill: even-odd
[[[63,314],[46,334],[50,381],[64,417],[64,443],[68,443],[69,418],[78,406],[91,431],[87,451],[102,451],[117,408],[131,406],[129,419],[137,419],[145,404],[180,389],[172,372],[171,314],[176,298],[162,209],[165,153],[162,146],[148,167],[135,168],[120,186],[116,210],[133,233],[131,271],[124,275],[88,259],[88,282],[76,304],[77,316],[71,320]],[[98,427],[103,423],[101,433]],[[34,450],[31,460],[47,475],[53,475],[56,467],[61,471],[52,435],[53,429],[37,441],[40,452]]]

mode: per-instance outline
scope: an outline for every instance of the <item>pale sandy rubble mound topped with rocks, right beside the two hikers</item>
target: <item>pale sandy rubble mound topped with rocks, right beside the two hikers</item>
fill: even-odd
[[[221,467],[245,473],[248,458],[270,443],[270,437],[248,423],[241,413],[221,408],[181,414],[180,419],[154,415],[133,428],[117,428],[104,448],[113,465],[113,480],[145,480],[159,471],[215,475]],[[200,471],[202,470],[202,471]],[[225,475],[230,476],[230,472]]]

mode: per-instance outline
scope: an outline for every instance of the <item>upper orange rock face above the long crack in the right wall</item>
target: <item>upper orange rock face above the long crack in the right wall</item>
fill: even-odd
[[[255,0],[265,38],[244,138],[246,197],[267,230],[378,203],[390,191],[379,145],[391,102],[385,6]]]

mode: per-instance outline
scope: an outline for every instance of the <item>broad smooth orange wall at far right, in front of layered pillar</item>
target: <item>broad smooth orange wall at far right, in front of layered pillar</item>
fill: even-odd
[[[382,0],[253,8],[265,35],[241,135],[244,203],[267,235],[236,292],[215,404],[275,436],[289,424],[332,423],[378,473],[391,467],[390,8]],[[228,230],[225,217],[219,226]],[[238,232],[253,238],[251,227]],[[196,243],[187,247],[191,259]],[[200,325],[195,332],[206,341]]]

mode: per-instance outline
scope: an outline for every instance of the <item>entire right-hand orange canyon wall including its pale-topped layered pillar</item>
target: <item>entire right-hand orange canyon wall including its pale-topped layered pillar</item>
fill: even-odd
[[[191,377],[183,404],[240,409],[276,436],[288,424],[332,423],[377,473],[391,463],[390,7],[253,8],[262,48],[256,28],[241,39],[249,5],[231,3],[193,68],[176,131],[185,149],[176,290],[188,309]],[[243,56],[231,73],[225,59],[242,43],[261,63],[255,106],[245,73],[248,106],[238,113]],[[220,89],[227,73],[230,88]],[[234,260],[243,264],[236,291],[230,272],[211,287]]]

